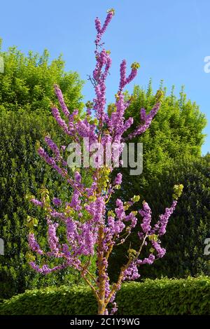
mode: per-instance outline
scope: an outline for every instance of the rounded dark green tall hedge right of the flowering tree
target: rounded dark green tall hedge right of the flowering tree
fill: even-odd
[[[167,232],[162,237],[162,246],[167,253],[152,266],[144,265],[140,268],[143,279],[210,274],[209,256],[204,255],[204,240],[210,237],[209,169],[209,155],[193,162],[177,163],[158,175],[148,188],[145,199],[151,206],[155,223],[158,216],[172,203],[174,184],[182,183],[184,186],[176,210],[169,219]],[[113,279],[116,279],[117,267],[119,271],[120,265],[125,262],[125,253],[130,243],[132,248],[138,247],[137,235],[133,234],[127,244],[119,246],[111,258],[110,272]]]

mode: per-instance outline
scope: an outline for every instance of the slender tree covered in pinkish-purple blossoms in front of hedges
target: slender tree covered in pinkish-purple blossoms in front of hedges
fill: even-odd
[[[69,140],[81,144],[82,139],[85,138],[83,147],[86,151],[91,153],[92,144],[97,144],[103,148],[107,145],[116,144],[118,145],[118,155],[120,155],[123,152],[123,141],[142,134],[151,125],[153,117],[160,109],[161,92],[158,92],[157,104],[149,113],[146,113],[145,109],[141,109],[141,125],[125,137],[124,133],[132,126],[133,119],[125,120],[124,114],[132,99],[125,99],[123,89],[137,76],[139,64],[133,63],[131,72],[127,76],[126,62],[123,60],[120,65],[120,84],[116,94],[116,103],[106,112],[105,83],[111,66],[111,57],[110,52],[103,48],[102,36],[113,15],[114,10],[108,10],[103,26],[98,18],[95,20],[97,30],[94,41],[96,45],[96,66],[90,77],[94,86],[95,98],[93,102],[86,104],[85,119],[80,120],[78,118],[77,110],[69,113],[62,92],[57,85],[55,85],[55,94],[64,118],[62,118],[56,106],[52,106],[52,115],[64,133],[69,136]],[[94,112],[94,117],[92,117],[92,112]],[[45,142],[53,156],[50,156],[40,146],[38,147],[38,154],[66,179],[73,192],[71,200],[67,203],[55,197],[51,202],[48,190],[44,188],[41,190],[41,200],[31,197],[31,202],[38,207],[43,207],[45,211],[48,223],[49,251],[42,250],[36,241],[34,232],[31,231],[29,233],[29,246],[32,251],[42,255],[45,263],[38,265],[38,260],[35,262],[35,259],[33,259],[30,265],[42,274],[48,274],[64,267],[74,267],[92,288],[98,303],[98,314],[108,314],[109,304],[113,305],[111,308],[111,314],[113,314],[117,309],[116,302],[114,302],[116,292],[120,289],[123,281],[139,278],[139,266],[152,264],[155,259],[165,255],[165,248],[160,246],[160,237],[166,232],[169,216],[176,207],[182,186],[176,186],[172,206],[166,209],[165,214],[162,214],[158,222],[152,226],[151,209],[146,202],[143,202],[141,210],[132,210],[134,203],[139,201],[139,196],[134,196],[128,202],[118,199],[116,200],[116,208],[108,211],[109,199],[115,193],[115,190],[120,188],[122,182],[122,174],[120,173],[117,174],[115,179],[111,180],[110,178],[114,162],[112,148],[111,152],[108,152],[108,148],[106,148],[106,158],[109,158],[109,165],[104,162],[104,158],[100,153],[95,155],[95,166],[87,169],[91,173],[92,181],[89,186],[85,186],[83,177],[80,175],[80,169],[76,168],[74,170],[74,179],[69,172],[71,169],[64,160],[66,146],[59,148],[49,136],[45,137]],[[122,165],[122,161],[120,164]],[[55,219],[59,223],[55,222]],[[66,241],[64,243],[63,240],[62,242],[59,241],[59,234],[57,234],[61,226],[64,227],[65,231]],[[136,226],[139,228],[139,248],[137,250],[129,248],[127,257],[125,257],[125,265],[120,269],[118,280],[116,283],[110,283],[107,272],[109,255],[115,246],[123,244]],[[151,244],[151,253],[147,258],[142,258],[141,251],[146,244]],[[92,274],[90,265],[95,254],[97,256],[97,273]],[[50,267],[47,264],[47,258],[51,260],[52,257],[55,258],[55,267]]]

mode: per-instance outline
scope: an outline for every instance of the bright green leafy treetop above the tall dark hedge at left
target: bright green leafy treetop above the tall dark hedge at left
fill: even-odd
[[[1,52],[4,73],[0,74],[0,110],[39,111],[50,113],[50,104],[57,100],[53,85],[59,84],[69,110],[82,109],[81,89],[83,82],[76,72],[64,72],[64,61],[60,56],[49,60],[48,50],[43,55],[29,52],[25,56],[15,47]]]

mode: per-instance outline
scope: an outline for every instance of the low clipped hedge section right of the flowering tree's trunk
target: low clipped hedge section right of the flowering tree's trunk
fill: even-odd
[[[210,314],[210,278],[156,279],[125,283],[118,293],[118,314]]]

